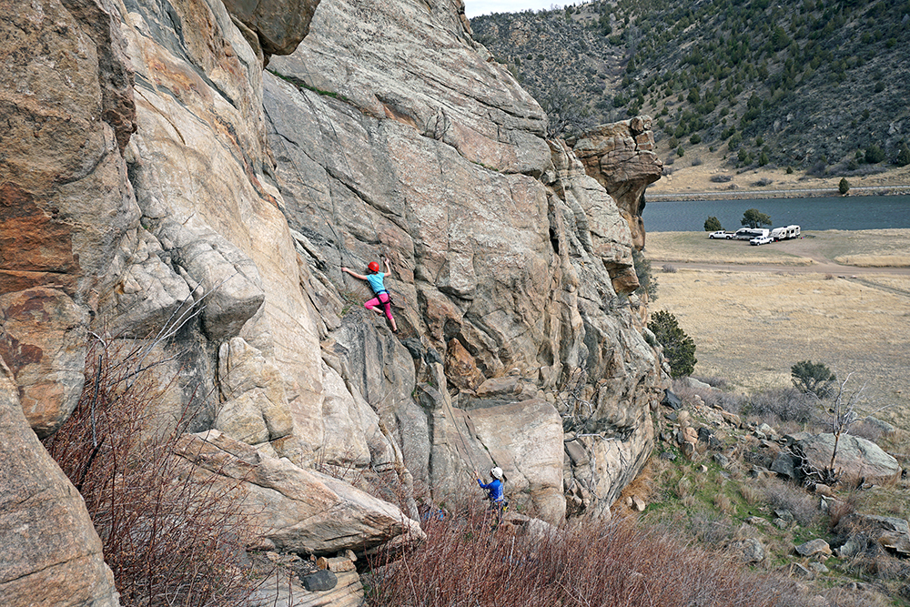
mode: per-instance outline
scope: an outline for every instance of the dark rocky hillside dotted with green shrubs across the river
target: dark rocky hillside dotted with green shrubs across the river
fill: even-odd
[[[483,15],[476,39],[551,135],[654,117],[676,168],[861,177],[910,165],[910,3],[596,1]]]

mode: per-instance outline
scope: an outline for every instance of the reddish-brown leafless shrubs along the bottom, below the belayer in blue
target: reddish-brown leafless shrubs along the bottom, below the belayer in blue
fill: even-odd
[[[721,552],[630,521],[558,531],[490,532],[474,507],[427,524],[427,540],[397,560],[379,555],[367,580],[377,607],[663,607],[807,604],[794,582],[745,572]]]

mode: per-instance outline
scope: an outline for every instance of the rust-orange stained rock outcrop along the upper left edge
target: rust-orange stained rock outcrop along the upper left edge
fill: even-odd
[[[89,309],[113,287],[138,219],[122,155],[133,78],[106,1],[5,13],[0,356],[44,435],[76,406]]]

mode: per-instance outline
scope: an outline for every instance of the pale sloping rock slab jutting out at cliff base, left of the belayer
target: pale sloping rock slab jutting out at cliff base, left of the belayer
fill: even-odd
[[[280,551],[334,554],[364,551],[393,538],[424,539],[420,523],[398,507],[344,481],[271,458],[218,430],[186,434],[177,454],[197,473],[238,482],[263,537]]]

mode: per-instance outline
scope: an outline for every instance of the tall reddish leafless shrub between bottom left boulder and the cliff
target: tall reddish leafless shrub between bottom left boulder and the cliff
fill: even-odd
[[[141,343],[92,343],[86,388],[45,447],[86,501],[121,605],[241,604],[255,584],[241,566],[251,526],[238,483],[190,475],[173,455],[191,419],[158,425],[164,390]]]

